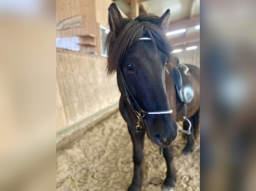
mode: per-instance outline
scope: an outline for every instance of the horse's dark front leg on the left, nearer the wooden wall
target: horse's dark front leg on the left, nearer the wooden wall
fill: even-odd
[[[128,128],[129,129],[129,128]],[[129,131],[132,144],[133,144],[133,162],[134,162],[134,175],[132,184],[128,191],[140,191],[143,182],[143,146],[144,146],[144,133],[133,134]]]

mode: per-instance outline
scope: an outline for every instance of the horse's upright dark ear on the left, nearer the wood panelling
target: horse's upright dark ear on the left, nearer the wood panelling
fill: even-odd
[[[109,22],[109,27],[110,31],[118,34],[120,28],[123,26],[123,17],[118,10],[117,6],[115,3],[111,3],[108,9],[108,22]]]

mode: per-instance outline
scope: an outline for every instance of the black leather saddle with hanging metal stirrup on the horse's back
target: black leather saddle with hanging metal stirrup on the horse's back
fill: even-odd
[[[177,95],[180,101],[183,103],[182,112],[183,118],[189,121],[186,117],[187,115],[187,107],[186,103],[190,103],[194,97],[194,90],[192,88],[191,83],[187,78],[188,67],[184,64],[177,64],[177,66],[171,71],[167,68],[169,76],[174,82],[174,86],[176,88]],[[180,130],[182,133],[190,134],[191,123],[189,121],[189,130]]]

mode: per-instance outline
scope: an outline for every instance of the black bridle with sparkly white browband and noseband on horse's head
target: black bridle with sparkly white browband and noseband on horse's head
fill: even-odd
[[[150,41],[151,38],[142,37],[139,40],[140,41]],[[144,128],[143,131],[146,131],[145,123],[143,121],[143,117],[145,117],[146,115],[167,115],[167,114],[171,114],[172,113],[172,109],[169,109],[169,110],[159,110],[159,111],[144,111],[140,107],[139,103],[136,101],[134,96],[129,91],[129,88],[128,88],[127,84],[126,84],[126,81],[124,79],[124,76],[123,76],[122,71],[121,71],[120,68],[119,68],[119,71],[120,71],[120,74],[121,74],[121,79],[122,79],[122,83],[123,83],[123,87],[124,87],[124,91],[125,91],[126,100],[127,100],[128,104],[131,106],[132,111],[135,113],[135,115],[138,118],[138,122],[137,122],[137,125],[135,127],[136,128],[136,132],[139,132],[139,129],[141,129],[141,128]],[[128,123],[130,123],[129,116],[128,116],[128,113],[127,113],[125,107],[124,107],[124,111],[125,111],[127,122],[129,121]],[[141,123],[142,123],[142,125],[141,125]]]

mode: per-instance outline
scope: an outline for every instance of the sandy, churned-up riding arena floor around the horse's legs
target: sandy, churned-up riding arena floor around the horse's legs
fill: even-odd
[[[174,140],[177,182],[174,191],[200,190],[200,138],[195,149],[181,155],[186,140]],[[133,177],[133,147],[119,111],[88,129],[79,139],[56,151],[57,191],[126,191]],[[166,163],[145,135],[142,191],[160,191]],[[158,180],[157,185],[152,184]]]

